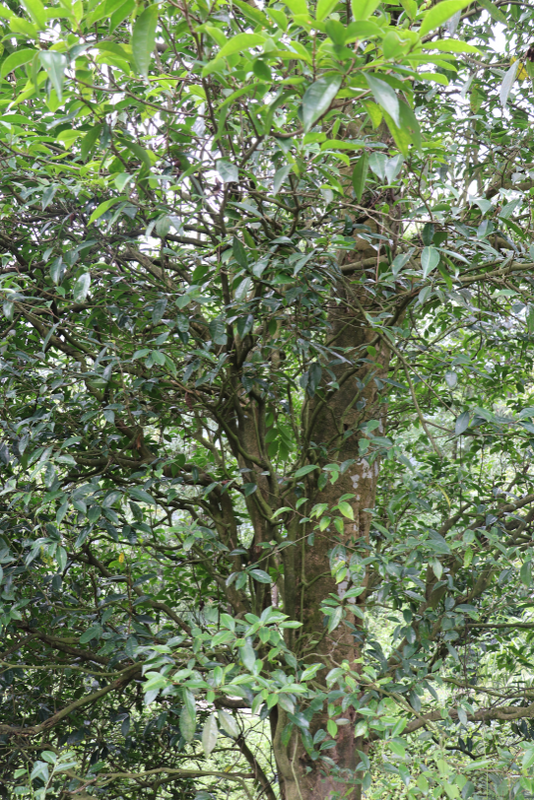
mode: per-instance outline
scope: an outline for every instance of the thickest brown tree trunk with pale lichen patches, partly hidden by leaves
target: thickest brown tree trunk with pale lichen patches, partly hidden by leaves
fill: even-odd
[[[361,276],[360,276],[361,277]],[[285,551],[285,597],[284,607],[293,618],[300,619],[303,627],[297,631],[293,647],[298,656],[310,663],[319,660],[325,669],[318,679],[325,685],[325,676],[333,667],[347,661],[355,669],[355,660],[361,653],[363,631],[359,629],[360,620],[350,613],[351,603],[358,602],[360,608],[365,603],[365,587],[368,581],[364,568],[359,576],[364,592],[346,603],[345,623],[341,623],[331,633],[327,632],[327,618],[321,602],[330,596],[343,597],[350,585],[347,579],[336,583],[331,570],[331,551],[340,545],[340,558],[343,547],[347,560],[351,555],[362,559],[368,556],[368,543],[372,516],[369,509],[375,504],[376,486],[379,473],[378,459],[368,459],[361,455],[359,443],[364,435],[362,424],[378,420],[379,428],[375,435],[384,435],[384,410],[380,404],[379,387],[386,376],[389,351],[381,340],[376,341],[374,331],[369,327],[363,307],[365,289],[362,283],[345,283],[339,287],[338,298],[343,300],[330,311],[330,346],[342,353],[346,361],[333,367],[339,388],[324,402],[321,393],[309,402],[308,425],[309,441],[315,447],[314,462],[321,467],[327,464],[342,464],[352,460],[350,466],[335,483],[327,483],[319,488],[319,471],[312,473],[307,483],[309,503],[307,511],[315,503],[328,503],[336,506],[342,495],[349,495],[354,520],[344,519],[343,533],[330,525],[322,534],[315,532],[313,544],[303,536],[309,535],[312,528],[303,530],[295,525],[293,538],[295,546]],[[368,351],[373,344],[375,351]],[[371,355],[372,354],[372,355]],[[326,386],[323,385],[326,391]],[[324,395],[323,395],[324,397]],[[313,456],[310,455],[310,460]],[[334,512],[339,515],[339,512]],[[289,580],[291,576],[291,580]],[[334,687],[335,688],[335,687]],[[325,688],[325,691],[328,689]],[[323,728],[326,730],[327,703],[313,717],[310,733]],[[338,727],[335,745],[325,751],[325,755],[335,764],[325,765],[321,759],[312,760],[294,730],[288,746],[281,741],[281,732],[287,722],[285,714],[279,712],[277,734],[274,741],[275,755],[279,767],[280,785],[283,800],[330,800],[345,798],[359,800],[361,786],[356,784],[356,767],[360,762],[357,749],[364,744],[355,739],[354,728],[357,713],[349,707],[339,717],[346,722]]]

